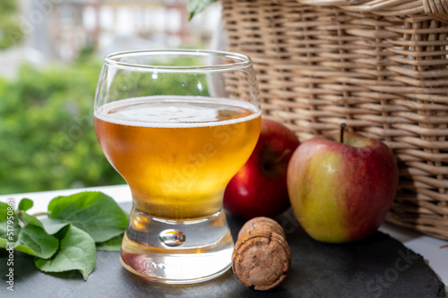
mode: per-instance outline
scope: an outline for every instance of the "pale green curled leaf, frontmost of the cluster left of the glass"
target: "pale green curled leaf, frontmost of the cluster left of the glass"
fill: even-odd
[[[34,259],[37,268],[44,272],[79,270],[87,280],[95,268],[97,252],[90,235],[71,225],[61,239],[61,247],[50,260]]]

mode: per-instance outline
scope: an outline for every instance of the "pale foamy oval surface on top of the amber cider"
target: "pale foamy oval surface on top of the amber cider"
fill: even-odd
[[[259,115],[257,106],[241,100],[176,96],[121,99],[95,111],[109,123],[154,128],[228,125]]]

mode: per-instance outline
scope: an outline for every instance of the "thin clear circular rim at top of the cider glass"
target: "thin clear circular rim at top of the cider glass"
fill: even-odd
[[[225,64],[202,64],[202,65],[157,65],[157,64],[135,64],[117,60],[122,57],[136,56],[168,56],[168,55],[184,55],[184,56],[221,56],[233,59],[235,62]],[[106,55],[104,63],[121,69],[132,69],[134,71],[155,71],[155,72],[213,72],[213,71],[229,71],[246,68],[252,66],[252,59],[248,55],[207,50],[207,49],[145,49],[135,51],[123,51]]]

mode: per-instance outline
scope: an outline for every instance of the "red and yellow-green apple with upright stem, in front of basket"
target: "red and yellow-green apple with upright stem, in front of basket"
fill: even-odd
[[[315,240],[327,243],[374,234],[392,205],[398,180],[391,149],[355,132],[344,134],[342,125],[340,134],[300,145],[288,168],[298,222]]]

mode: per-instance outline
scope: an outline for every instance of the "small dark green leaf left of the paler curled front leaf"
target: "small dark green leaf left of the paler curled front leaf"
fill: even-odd
[[[51,258],[59,247],[59,241],[53,235],[47,234],[39,226],[22,227],[14,250],[22,251],[42,259]]]

